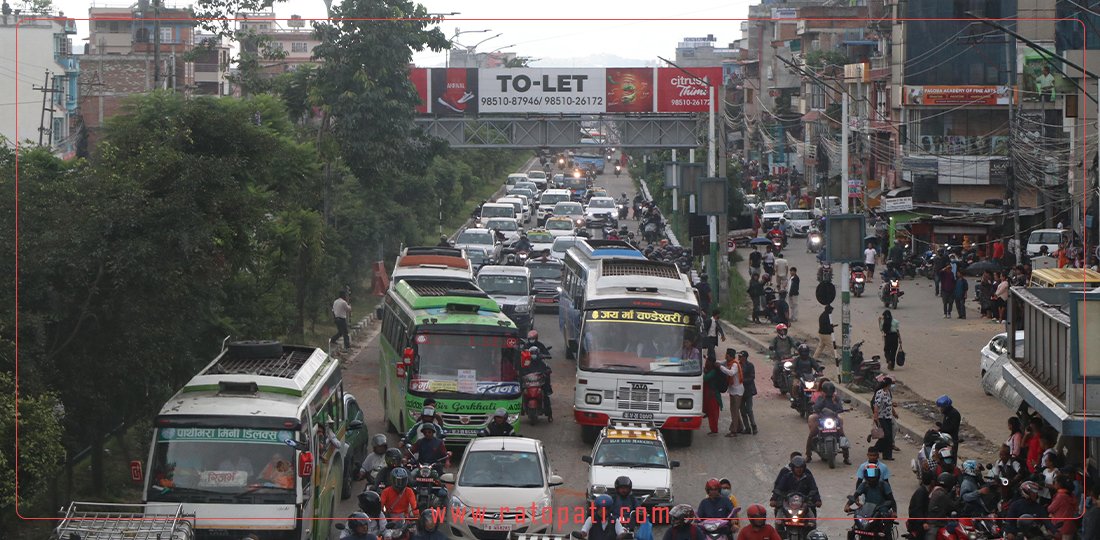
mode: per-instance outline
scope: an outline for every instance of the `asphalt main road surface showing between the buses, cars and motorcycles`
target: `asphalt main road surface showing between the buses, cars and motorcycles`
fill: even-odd
[[[624,174],[616,179],[614,175],[605,175],[597,184],[608,187],[613,196],[627,192],[632,197],[634,189]],[[629,223],[631,228],[634,222]],[[554,472],[565,480],[565,484],[557,491],[558,505],[582,505],[587,486],[587,465],[581,462],[581,456],[591,452],[591,447],[581,441],[580,428],[572,420],[573,383],[575,364],[564,360],[562,351],[564,343],[558,329],[557,316],[539,315],[536,328],[541,339],[553,346],[554,357],[550,361],[553,367],[552,398],[556,421],[540,421],[535,426],[522,421],[521,432],[547,442]],[[362,404],[378,403],[377,389],[377,323],[363,340],[363,349],[345,364],[345,387],[360,398]],[[727,341],[724,345],[738,350],[747,348],[744,343]],[[772,389],[767,379],[767,362],[754,359],[757,370],[765,375],[758,376],[760,394],[756,397],[758,436],[740,436],[725,438],[708,437],[703,431],[697,432],[695,442],[690,448],[674,448],[672,458],[679,460],[682,466],[673,471],[673,494],[680,502],[697,505],[704,497],[703,484],[708,477],[729,477],[733,481],[734,494],[743,507],[752,503],[766,503],[771,485],[779,470],[787,463],[788,455],[794,450],[805,447],[806,426],[799,416],[790,409],[787,400]],[[366,421],[372,433],[383,432],[381,409],[365,409]],[[850,518],[843,514],[844,496],[855,487],[856,466],[864,461],[867,444],[864,440],[870,431],[870,420],[866,415],[848,412],[846,431],[853,439],[853,465],[839,464],[836,470],[829,470],[821,462],[814,462],[811,470],[817,477],[818,486],[825,494],[825,506],[822,508],[822,528],[832,538],[843,538],[844,531],[850,526]],[[728,411],[723,414],[721,426],[727,426]],[[704,428],[705,429],[705,428]],[[723,430],[724,431],[724,430]],[[908,456],[915,450],[904,447],[895,462],[889,463],[894,471],[894,491],[898,493],[900,506],[908,507],[909,495],[916,487],[913,475],[908,470]],[[356,492],[362,483],[356,483]],[[349,514],[354,510],[354,498],[344,502],[340,511]],[[579,526],[570,525],[565,531]],[[562,532],[562,531],[559,531]]]

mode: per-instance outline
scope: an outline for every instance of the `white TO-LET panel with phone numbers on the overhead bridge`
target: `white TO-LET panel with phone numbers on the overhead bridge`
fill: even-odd
[[[601,113],[606,110],[603,68],[481,69],[479,109],[484,113]]]

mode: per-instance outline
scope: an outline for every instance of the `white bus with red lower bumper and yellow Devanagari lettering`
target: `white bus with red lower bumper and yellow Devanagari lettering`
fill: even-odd
[[[701,320],[695,291],[674,264],[609,245],[571,247],[562,274],[560,322],[575,348],[573,416],[592,443],[612,419],[645,420],[691,444],[703,423]],[[640,254],[639,254],[640,255]],[[686,349],[685,349],[686,344]],[[572,346],[571,346],[572,345]]]

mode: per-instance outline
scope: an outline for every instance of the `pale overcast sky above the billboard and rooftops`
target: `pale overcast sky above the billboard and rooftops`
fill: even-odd
[[[339,2],[339,0],[337,0]],[[18,2],[12,2],[18,3]],[[186,1],[165,0],[165,5],[186,5]],[[421,0],[429,12],[458,15],[447,18],[439,27],[450,38],[457,30],[462,32],[490,30],[490,32],[468,32],[454,42],[463,46],[477,46],[477,52],[516,53],[532,59],[562,59],[588,57],[590,55],[613,55],[656,64],[657,56],[673,59],[675,46],[686,36],[714,34],[716,46],[726,46],[740,36],[740,22],[748,16],[748,7],[755,0],[718,1],[690,0],[664,2],[642,0]],[[67,16],[87,18],[90,5],[122,7],[124,0],[54,0],[54,5]],[[326,16],[322,0],[288,0],[275,4],[276,16],[293,14],[302,18]],[[580,21],[578,19],[614,19],[614,21]],[[625,21],[630,19],[694,19],[680,21]],[[84,49],[87,37],[87,21],[78,22],[79,33],[74,36],[74,48]],[[501,34],[494,37],[496,34]],[[509,46],[510,45],[510,46]],[[446,53],[426,52],[417,54],[414,62],[425,67],[442,66]],[[532,65],[551,67],[546,62]],[[576,63],[570,66],[576,67]]]

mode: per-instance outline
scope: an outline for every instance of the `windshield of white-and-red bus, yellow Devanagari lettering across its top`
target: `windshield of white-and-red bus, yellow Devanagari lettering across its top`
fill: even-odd
[[[698,375],[702,354],[694,313],[653,309],[593,309],[581,329],[584,371]]]

